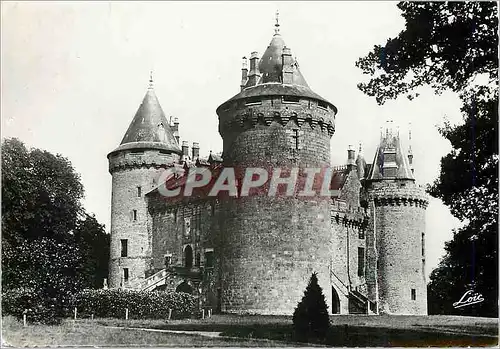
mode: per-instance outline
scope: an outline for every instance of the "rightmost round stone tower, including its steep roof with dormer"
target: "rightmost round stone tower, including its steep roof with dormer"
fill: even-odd
[[[399,133],[381,137],[366,189],[373,219],[380,314],[427,315],[425,209]]]

